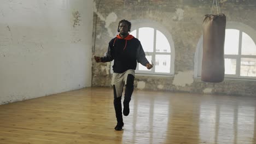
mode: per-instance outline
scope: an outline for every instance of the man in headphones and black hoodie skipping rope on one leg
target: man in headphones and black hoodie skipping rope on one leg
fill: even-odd
[[[108,51],[104,57],[94,56],[95,61],[110,62],[114,59],[112,85],[114,89],[114,108],[117,117],[115,130],[122,130],[124,126],[122,116],[121,96],[125,85],[124,110],[125,116],[130,113],[129,103],[133,92],[133,81],[137,62],[147,69],[153,67],[146,58],[141,42],[129,34],[131,22],[121,20],[118,24],[119,35],[109,41]]]

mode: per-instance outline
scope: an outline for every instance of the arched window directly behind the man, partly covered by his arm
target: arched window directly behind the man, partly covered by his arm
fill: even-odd
[[[174,44],[165,28],[152,21],[135,21],[132,22],[130,34],[141,41],[146,58],[154,64],[150,70],[138,64],[137,74],[173,75]]]

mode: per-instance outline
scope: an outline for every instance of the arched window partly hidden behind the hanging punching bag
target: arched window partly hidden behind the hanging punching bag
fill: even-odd
[[[225,77],[256,79],[256,31],[238,22],[227,22],[224,44]],[[195,76],[201,76],[202,37],[195,54]]]

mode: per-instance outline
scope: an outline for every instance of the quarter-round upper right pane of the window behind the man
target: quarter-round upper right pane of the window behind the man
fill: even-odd
[[[156,30],[156,52],[171,52],[167,38],[160,31]]]

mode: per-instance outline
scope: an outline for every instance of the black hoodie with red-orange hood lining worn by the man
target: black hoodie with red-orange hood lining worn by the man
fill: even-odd
[[[114,73],[124,73],[129,69],[136,69],[137,62],[146,66],[148,62],[141,42],[127,35],[126,38],[121,38],[120,35],[109,41],[108,51],[104,57],[101,57],[101,62],[110,62],[114,59]]]

